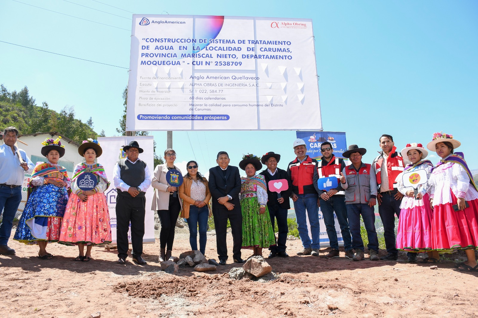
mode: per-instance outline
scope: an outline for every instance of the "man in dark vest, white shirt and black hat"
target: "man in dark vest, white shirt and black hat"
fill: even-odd
[[[115,165],[113,182],[118,191],[116,197],[116,242],[118,264],[126,264],[128,257],[128,229],[131,222],[131,252],[133,261],[145,265],[143,253],[144,214],[146,213],[146,190],[151,186],[151,172],[146,162],[138,155],[143,152],[136,140],[123,146],[127,158]]]

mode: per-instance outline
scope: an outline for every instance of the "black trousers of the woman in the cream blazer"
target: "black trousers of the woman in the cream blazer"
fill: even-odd
[[[159,243],[161,248],[167,247],[168,251],[173,250],[174,229],[176,228],[179,211],[181,211],[179,200],[179,195],[175,198],[173,195],[169,195],[169,209],[158,210],[159,221],[161,222]]]

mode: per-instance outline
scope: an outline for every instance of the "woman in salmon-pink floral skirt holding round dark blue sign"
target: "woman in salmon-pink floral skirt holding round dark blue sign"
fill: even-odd
[[[72,193],[66,205],[58,241],[69,246],[78,245],[76,261],[88,262],[93,245],[111,243],[108,203],[104,194],[109,181],[103,166],[95,163],[102,152],[98,141],[91,138],[84,140],[78,148],[78,153],[85,157],[85,161],[77,164],[73,172]],[[85,172],[91,172],[97,178],[97,185],[92,190],[85,191],[78,187],[78,177]]]

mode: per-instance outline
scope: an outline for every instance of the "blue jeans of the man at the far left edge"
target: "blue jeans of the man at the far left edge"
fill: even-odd
[[[0,224],[0,245],[7,245],[11,227],[18,206],[22,201],[22,187],[10,188],[0,186],[0,213],[3,210]]]

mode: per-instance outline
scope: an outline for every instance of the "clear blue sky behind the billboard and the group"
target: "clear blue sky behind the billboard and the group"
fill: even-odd
[[[22,0],[52,11],[130,30],[131,13],[93,0]],[[310,18],[314,24],[323,128],[346,131],[348,144],[367,148],[371,162],[387,133],[401,149],[426,144],[432,134],[462,142],[470,169],[478,168],[477,1],[124,1],[101,2],[134,13],[205,14]],[[127,18],[127,19],[125,19]],[[45,11],[13,0],[0,1],[0,41],[129,66],[130,32]],[[38,105],[75,106],[77,117],[93,118],[107,136],[122,113],[126,69],[94,64],[0,42],[0,83],[27,85]],[[307,116],[307,114],[304,114]],[[244,118],[247,121],[247,118]],[[475,127],[475,128],[473,128]],[[157,153],[166,133],[154,132]],[[293,131],[174,132],[178,161],[196,157],[200,171],[228,151],[237,165],[243,153],[294,158]],[[191,147],[192,145],[192,147]],[[194,150],[194,153],[193,153]],[[435,163],[436,154],[430,156]]]

